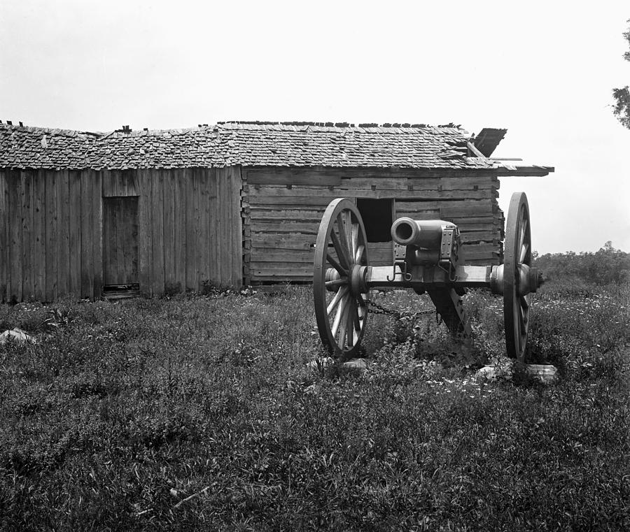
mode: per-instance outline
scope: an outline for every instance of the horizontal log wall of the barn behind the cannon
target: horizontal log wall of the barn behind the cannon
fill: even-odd
[[[498,264],[503,218],[496,175],[474,171],[243,168],[245,275],[251,282],[309,281],[321,216],[339,197],[393,199],[395,217],[458,225],[467,264]],[[370,243],[371,264],[391,244]]]

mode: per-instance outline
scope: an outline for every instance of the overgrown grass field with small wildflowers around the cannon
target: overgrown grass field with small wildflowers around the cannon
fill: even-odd
[[[305,287],[2,306],[37,343],[0,346],[0,529],[629,530],[630,289],[535,295],[555,384],[503,357],[501,299],[466,300],[473,350],[372,315],[363,374],[306,366]]]

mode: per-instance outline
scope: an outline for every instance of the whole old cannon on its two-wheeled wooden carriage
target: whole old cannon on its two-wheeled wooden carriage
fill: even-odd
[[[462,296],[468,288],[503,294],[507,354],[524,361],[530,294],[542,285],[532,266],[529,206],[524,192],[510,199],[503,264],[466,266],[459,229],[444,220],[398,218],[391,226],[393,264],[371,266],[365,226],[355,203],[330,202],[315,244],[313,291],[319,336],[337,357],[356,356],[365,333],[370,289],[412,288],[428,294],[451,336],[470,340]]]

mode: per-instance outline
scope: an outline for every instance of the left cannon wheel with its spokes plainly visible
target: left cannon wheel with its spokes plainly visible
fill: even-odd
[[[367,238],[355,204],[335,199],[326,208],[315,245],[313,292],[319,336],[342,359],[358,353],[369,291],[360,276],[367,268]]]

